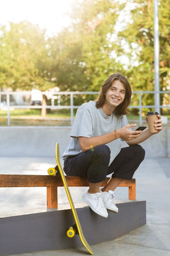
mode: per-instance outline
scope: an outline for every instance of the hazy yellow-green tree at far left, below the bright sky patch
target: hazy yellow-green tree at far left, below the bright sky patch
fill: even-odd
[[[43,90],[49,86],[42,75],[49,66],[45,32],[28,21],[1,28],[0,87]]]

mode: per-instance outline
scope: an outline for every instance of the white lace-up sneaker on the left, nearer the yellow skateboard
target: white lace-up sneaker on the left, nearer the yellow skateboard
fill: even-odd
[[[88,191],[82,196],[82,199],[89,207],[100,216],[107,218],[108,212],[104,201],[101,197],[101,193],[89,194]]]

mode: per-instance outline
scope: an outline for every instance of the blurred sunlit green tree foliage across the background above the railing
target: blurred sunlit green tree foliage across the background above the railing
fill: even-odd
[[[170,86],[169,4],[159,1],[161,90]],[[99,91],[121,72],[134,91],[154,90],[152,0],[73,0],[69,18],[55,36],[26,20],[0,27],[1,88]],[[144,96],[147,105],[153,100]]]

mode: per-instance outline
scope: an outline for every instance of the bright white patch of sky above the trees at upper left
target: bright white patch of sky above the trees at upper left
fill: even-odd
[[[72,0],[0,0],[0,24],[29,20],[52,35],[68,24],[64,12]]]

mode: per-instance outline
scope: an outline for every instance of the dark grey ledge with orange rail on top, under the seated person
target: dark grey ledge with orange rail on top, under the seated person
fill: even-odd
[[[108,180],[101,186],[105,186]],[[68,186],[89,185],[86,179],[80,177],[66,176],[66,181]],[[63,186],[60,176],[0,174],[0,186],[47,188],[46,211],[31,213],[29,210],[21,214],[0,215],[0,256],[82,247],[78,235],[73,238],[66,236],[66,231],[75,220],[70,206],[58,208],[57,188]],[[125,180],[119,186],[128,187],[128,200],[119,200],[119,213],[110,211],[107,219],[91,211],[85,203],[75,205],[84,236],[90,245],[117,238],[146,224],[146,201],[135,200],[135,179]]]

